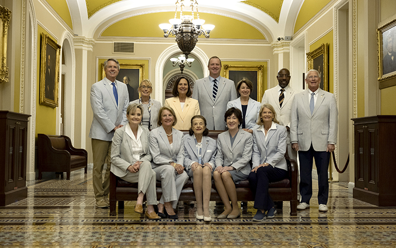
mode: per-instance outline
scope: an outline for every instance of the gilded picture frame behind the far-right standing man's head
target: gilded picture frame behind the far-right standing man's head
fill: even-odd
[[[308,70],[311,69],[316,69],[314,67],[314,60],[316,58],[319,58],[320,56],[323,55],[323,62],[322,62],[322,68],[323,68],[323,88],[322,90],[325,91],[329,91],[329,59],[328,59],[328,47],[329,44],[320,44],[320,46],[318,48],[316,48],[315,50],[313,50],[312,52],[308,52],[306,53],[306,62],[308,65]]]

